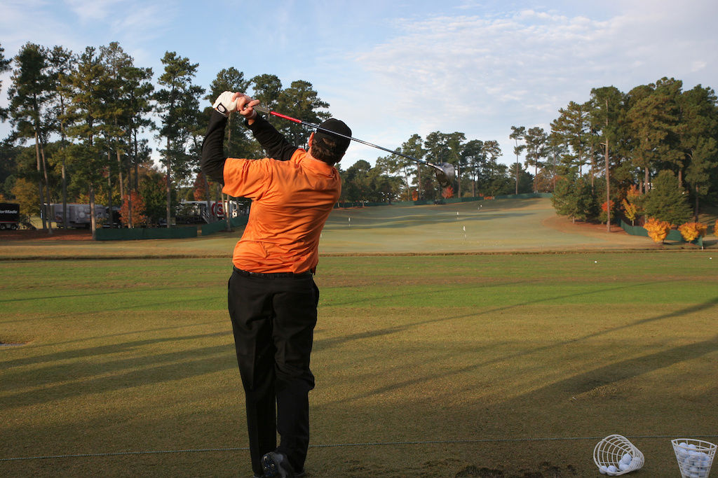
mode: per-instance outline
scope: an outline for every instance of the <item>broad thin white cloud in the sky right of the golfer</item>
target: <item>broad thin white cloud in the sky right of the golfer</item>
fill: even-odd
[[[425,128],[419,133],[461,130],[504,140],[486,135],[548,125],[559,107],[587,100],[593,87],[628,91],[663,76],[692,87],[717,77],[718,40],[694,30],[705,19],[668,1],[645,11],[638,6],[653,2],[636,3],[603,19],[535,9],[404,19],[398,34],[355,62],[374,95],[391,98],[391,115],[406,125],[407,138],[417,132],[411,128]]]

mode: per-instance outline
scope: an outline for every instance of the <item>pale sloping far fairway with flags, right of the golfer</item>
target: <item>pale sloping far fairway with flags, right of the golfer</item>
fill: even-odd
[[[334,211],[323,252],[505,252],[647,247],[628,235],[581,234],[546,226],[549,199],[474,201]]]

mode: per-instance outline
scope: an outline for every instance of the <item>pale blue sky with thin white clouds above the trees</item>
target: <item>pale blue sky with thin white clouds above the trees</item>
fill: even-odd
[[[549,130],[592,87],[717,88],[716,18],[715,0],[0,0],[0,44],[11,57],[26,42],[117,41],[156,77],[174,51],[199,63],[204,87],[230,66],[307,80],[356,138],[398,148],[460,131],[498,140],[511,163],[512,125]],[[384,154],[353,143],[342,166]]]

